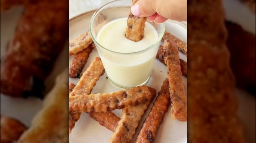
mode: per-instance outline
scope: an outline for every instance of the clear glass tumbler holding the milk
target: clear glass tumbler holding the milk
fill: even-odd
[[[90,34],[108,79],[112,84],[122,88],[136,87],[148,81],[165,31],[164,23],[149,22],[156,29],[159,38],[153,45],[138,52],[119,53],[101,46],[97,42],[100,29],[113,20],[128,18],[131,5],[131,0],[116,0],[107,3],[96,10],[90,21]]]

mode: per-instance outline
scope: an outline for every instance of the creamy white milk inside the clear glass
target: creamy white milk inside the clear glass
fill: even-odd
[[[147,49],[157,42],[158,33],[147,22],[142,40],[134,42],[127,39],[126,22],[127,18],[120,18],[104,25],[97,35],[98,43],[111,51],[132,53]],[[98,49],[98,52],[110,80],[122,87],[134,87],[143,84],[149,78],[159,44],[140,54],[114,54],[102,49]]]

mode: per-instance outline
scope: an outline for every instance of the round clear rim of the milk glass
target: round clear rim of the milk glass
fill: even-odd
[[[146,48],[146,49],[144,49],[144,50],[141,50],[141,51],[131,52],[131,53],[120,53],[120,52],[116,52],[116,51],[109,50],[109,49],[103,47],[102,45],[100,45],[100,44],[98,43],[98,41],[95,39],[95,37],[94,37],[93,34],[92,34],[92,23],[93,23],[93,20],[95,19],[96,14],[97,14],[102,8],[104,8],[104,7],[106,7],[107,5],[110,5],[110,4],[112,4],[112,3],[116,3],[116,2],[118,2],[118,1],[129,1],[129,2],[131,2],[131,0],[115,0],[115,1],[112,1],[112,2],[109,2],[109,3],[106,3],[105,5],[101,6],[100,8],[98,8],[98,9],[94,12],[94,14],[93,14],[93,16],[92,16],[92,18],[91,18],[91,20],[90,20],[89,31],[90,31],[92,40],[95,42],[95,45],[98,45],[98,46],[100,46],[102,49],[104,49],[104,50],[106,50],[106,51],[108,51],[108,52],[114,53],[114,54],[118,54],[118,55],[132,55],[132,54],[144,53],[144,52],[146,52],[146,51],[152,49],[153,47],[155,47],[157,44],[159,44],[159,42],[162,40],[162,37],[163,37],[163,35],[164,35],[165,23],[160,23],[160,24],[162,24],[163,28],[162,28],[161,35],[160,35],[160,37],[158,38],[158,40],[157,40],[154,44],[152,44],[151,46],[149,46],[148,48]],[[127,16],[127,18],[128,18],[128,16]],[[96,46],[96,47],[97,47],[97,46]]]

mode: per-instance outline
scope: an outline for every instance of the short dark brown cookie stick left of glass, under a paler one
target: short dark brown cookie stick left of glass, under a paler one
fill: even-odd
[[[69,68],[69,77],[80,78],[80,73],[82,72],[82,70],[89,58],[89,55],[92,53],[93,49],[94,49],[94,47],[91,44],[91,45],[89,45],[88,48],[75,54],[75,57],[74,57],[72,64],[70,65],[70,68]]]

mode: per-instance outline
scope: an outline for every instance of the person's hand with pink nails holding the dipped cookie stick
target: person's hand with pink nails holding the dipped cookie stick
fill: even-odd
[[[139,0],[131,12],[156,24],[167,19],[187,21],[187,0]]]

